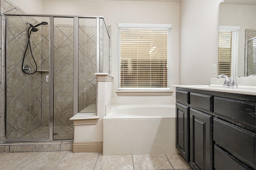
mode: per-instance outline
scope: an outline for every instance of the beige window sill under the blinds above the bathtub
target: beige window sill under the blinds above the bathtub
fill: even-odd
[[[172,96],[171,90],[118,90],[118,96]]]

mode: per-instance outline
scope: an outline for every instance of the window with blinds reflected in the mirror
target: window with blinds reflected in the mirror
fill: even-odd
[[[239,26],[220,26],[218,74],[238,76]]]

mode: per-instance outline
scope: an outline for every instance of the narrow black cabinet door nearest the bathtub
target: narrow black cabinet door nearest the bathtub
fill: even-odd
[[[182,104],[176,103],[176,148],[180,154],[189,162],[188,152],[188,120],[189,108]]]

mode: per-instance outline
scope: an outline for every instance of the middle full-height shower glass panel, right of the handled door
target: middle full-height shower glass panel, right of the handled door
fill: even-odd
[[[74,19],[54,17],[53,140],[73,139]]]

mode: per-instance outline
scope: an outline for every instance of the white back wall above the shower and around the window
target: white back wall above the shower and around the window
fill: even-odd
[[[178,84],[179,2],[116,0],[44,0],[44,14],[104,16],[111,26],[112,96],[118,90],[118,23],[172,24],[172,84]]]

